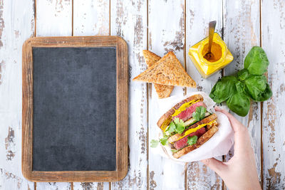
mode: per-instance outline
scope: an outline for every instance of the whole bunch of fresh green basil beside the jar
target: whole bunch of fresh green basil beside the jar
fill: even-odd
[[[230,110],[237,115],[246,116],[250,99],[262,102],[272,95],[264,76],[268,65],[269,60],[264,50],[254,46],[244,60],[244,69],[239,70],[236,75],[225,76],[219,80],[209,97],[217,103],[227,101]]]

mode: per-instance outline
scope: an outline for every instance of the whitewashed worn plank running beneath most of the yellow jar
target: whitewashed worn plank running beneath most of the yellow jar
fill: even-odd
[[[210,21],[217,21],[216,31],[222,36],[222,0],[186,1],[186,51],[195,43],[209,35]],[[204,79],[187,56],[187,73],[196,81],[197,89],[187,92],[203,91],[210,93],[213,85],[222,76],[221,72]],[[219,157],[222,159],[222,157]],[[187,167],[187,189],[222,189],[222,179],[201,162],[192,162]]]

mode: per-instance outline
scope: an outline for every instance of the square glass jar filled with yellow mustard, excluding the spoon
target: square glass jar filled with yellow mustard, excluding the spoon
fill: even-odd
[[[214,58],[207,60],[204,56],[208,51],[208,43],[209,37],[204,38],[189,49],[189,56],[203,78],[208,78],[210,75],[217,72],[217,70],[220,70],[231,63],[234,59],[232,53],[229,52],[227,45],[222,41],[219,34],[214,33],[211,48]]]

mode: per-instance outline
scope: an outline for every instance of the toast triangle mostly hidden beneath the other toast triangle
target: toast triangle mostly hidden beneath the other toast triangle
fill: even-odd
[[[147,68],[151,67],[155,63],[157,63],[158,60],[160,60],[160,56],[157,56],[155,53],[152,53],[148,50],[142,51],[143,57],[145,58],[145,63],[147,63]],[[172,85],[160,85],[160,84],[154,84],[155,90],[158,95],[158,98],[165,98],[169,97],[174,86]]]

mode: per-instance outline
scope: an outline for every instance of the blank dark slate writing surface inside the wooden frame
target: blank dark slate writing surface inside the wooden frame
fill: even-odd
[[[115,170],[116,49],[33,48],[33,170]]]

